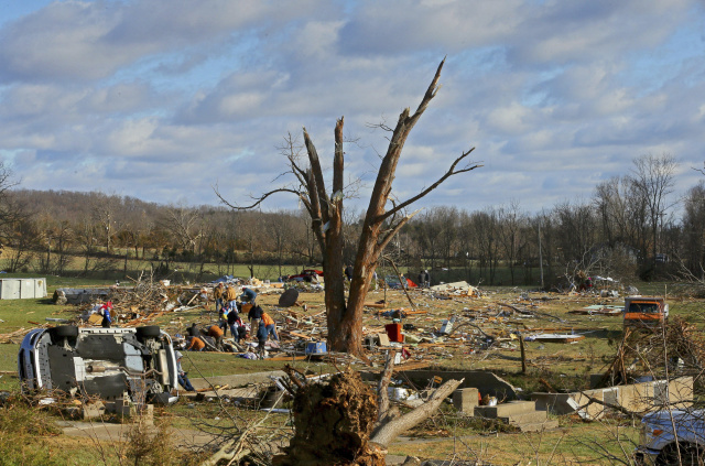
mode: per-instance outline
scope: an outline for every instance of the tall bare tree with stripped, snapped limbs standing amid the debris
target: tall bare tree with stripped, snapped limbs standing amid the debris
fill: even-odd
[[[347,351],[357,355],[362,353],[361,317],[365,297],[382,251],[394,235],[415,214],[406,214],[406,207],[426,196],[451,176],[481,166],[477,163],[467,162],[467,156],[473,152],[473,149],[470,149],[456,158],[446,173],[430,186],[421,189],[419,194],[402,202],[395,201],[392,196],[392,183],[404,143],[411,130],[438,91],[438,79],[441,78],[444,63],[445,59],[438,65],[431,85],[413,113],[409,108],[404,109],[393,129],[383,124],[379,126],[379,128],[391,133],[390,142],[381,160],[367,213],[362,220],[347,303],[343,280],[344,262],[341,253],[345,246],[343,235],[343,201],[345,197],[343,117],[337,120],[335,127],[333,186],[330,192],[326,189],[318,153],[305,128],[303,136],[308,166],[303,166],[300,163],[303,158],[300,156],[301,151],[295,148],[293,139],[290,138],[288,140],[290,145],[288,154],[290,162],[289,173],[295,176],[295,183],[264,193],[256,198],[250,206],[238,206],[228,203],[216,187],[218,197],[226,205],[236,209],[253,208],[275,193],[285,192],[299,196],[313,219],[312,228],[323,251],[326,277],[325,304],[328,343],[335,351]],[[460,165],[462,162],[465,165]]]

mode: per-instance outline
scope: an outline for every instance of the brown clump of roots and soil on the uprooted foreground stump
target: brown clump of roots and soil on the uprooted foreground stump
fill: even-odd
[[[387,452],[369,442],[377,414],[377,394],[357,372],[337,373],[326,384],[305,384],[294,397],[294,437],[273,463],[382,466]]]

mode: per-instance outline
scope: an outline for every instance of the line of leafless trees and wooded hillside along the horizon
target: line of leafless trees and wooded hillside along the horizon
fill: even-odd
[[[592,196],[527,213],[518,201],[466,210],[425,208],[384,250],[432,280],[484,284],[565,284],[579,271],[621,281],[686,272],[703,279],[705,184],[674,193],[677,162],[669,154],[634,159],[623,176],[600,182]],[[174,262],[219,273],[235,264],[319,264],[322,252],[303,212],[237,212],[227,206],[160,205],[104,193],[31,191],[0,165],[0,239],[8,272],[127,273],[130,261],[166,273]],[[364,224],[343,216],[344,261],[352,263]],[[79,263],[80,265],[76,265]],[[543,272],[543,277],[541,274]],[[412,275],[413,279],[413,275]]]

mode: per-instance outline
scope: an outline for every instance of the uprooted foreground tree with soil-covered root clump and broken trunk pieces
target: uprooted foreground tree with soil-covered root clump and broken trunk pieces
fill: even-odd
[[[350,369],[333,376],[327,383],[305,383],[289,368],[290,378],[299,386],[292,410],[295,433],[284,454],[275,456],[273,464],[386,465],[387,446],[401,433],[433,415],[443,400],[463,382],[448,380],[426,403],[399,415],[390,408],[387,395],[393,364],[394,358],[390,355],[378,393]]]

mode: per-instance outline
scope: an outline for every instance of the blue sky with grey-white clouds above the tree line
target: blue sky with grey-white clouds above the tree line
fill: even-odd
[[[679,160],[684,192],[705,160],[699,0],[0,0],[0,158],[25,188],[199,205],[217,184],[246,203],[286,183],[290,132],[329,166],[341,116],[346,175],[369,185],[372,127],[415,108],[444,56],[400,198],[473,147],[485,166],[422,205],[535,212],[649,153]]]

